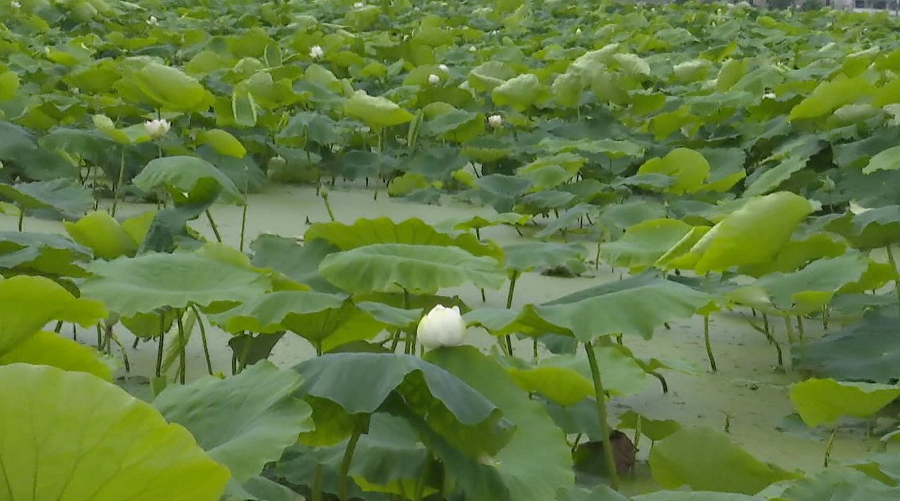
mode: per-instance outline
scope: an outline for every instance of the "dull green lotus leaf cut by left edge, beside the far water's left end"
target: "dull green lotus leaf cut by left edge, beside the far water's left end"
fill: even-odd
[[[94,205],[90,191],[65,178],[16,185],[0,183],[0,196],[25,209],[53,209],[72,218],[85,214]]]

